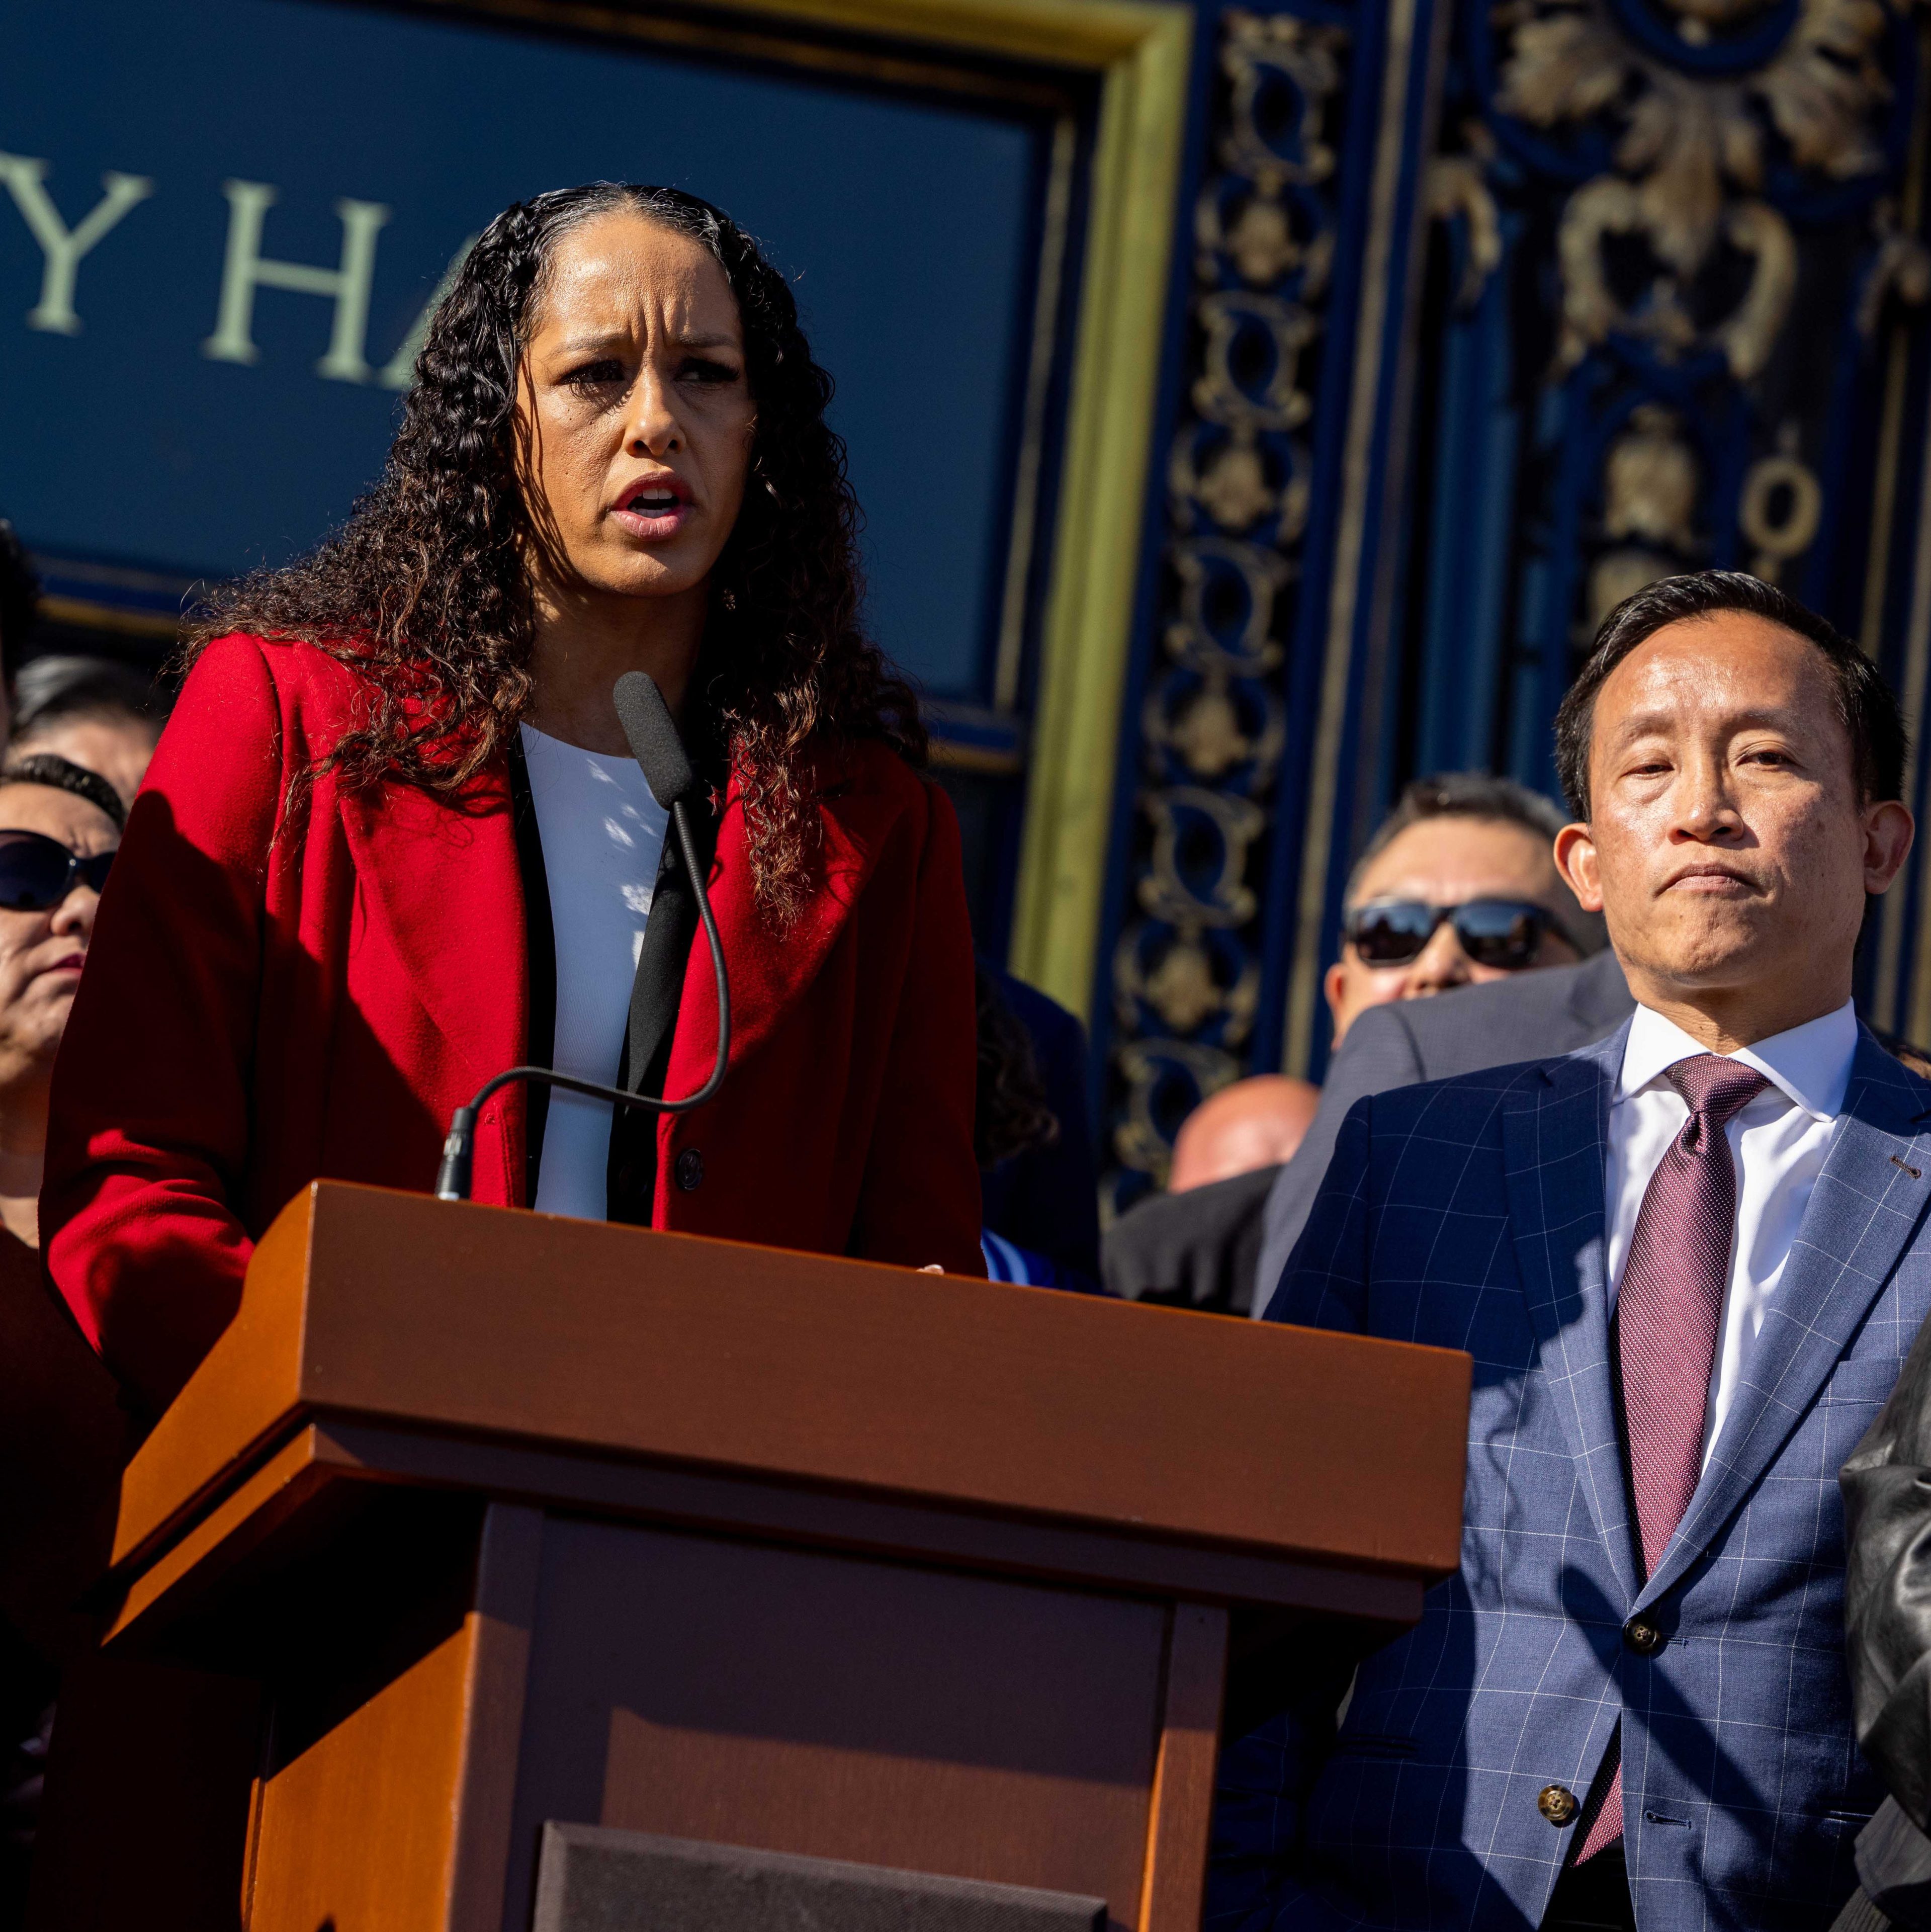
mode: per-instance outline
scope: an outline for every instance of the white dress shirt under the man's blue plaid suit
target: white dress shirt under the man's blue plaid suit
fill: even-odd
[[[1672,1020],[1637,1007],[1622,1049],[1622,1078],[1609,1109],[1609,1306],[1616,1306],[1622,1264],[1630,1256],[1636,1211],[1668,1144],[1690,1119],[1688,1101],[1665,1068],[1709,1049]],[[1736,1163],[1736,1242],[1722,1298],[1722,1327],[1709,1376],[1703,1463],[1749,1368],[1771,1298],[1790,1258],[1811,1188],[1823,1173],[1836,1117],[1844,1111],[1850,1063],[1858,1051],[1858,1014],[1850,1001],[1821,1020],[1805,1020],[1730,1055],[1755,1066],[1769,1086],[1732,1115],[1726,1128]]]

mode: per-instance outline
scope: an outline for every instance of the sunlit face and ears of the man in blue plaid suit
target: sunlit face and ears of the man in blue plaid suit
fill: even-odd
[[[1910,831],[1904,806],[1860,794],[1823,653],[1721,611],[1666,624],[1603,682],[1589,823],[1558,850],[1639,997],[1815,980],[1834,1003]]]

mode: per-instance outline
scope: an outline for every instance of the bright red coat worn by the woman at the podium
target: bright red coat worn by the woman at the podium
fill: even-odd
[[[108,1366],[166,1403],[309,1180],[434,1186],[450,1111],[523,1059],[529,960],[506,769],[452,804],[290,777],[355,715],[311,645],[224,638],[187,678],[114,864],[54,1070],[41,1231]],[[983,1273],[973,966],[944,794],[890,750],[815,761],[821,883],[782,937],[738,788],[711,898],[732,989],[718,1097],[658,1121],[653,1225]],[[664,1092],[716,1045],[703,935]],[[475,1198],[523,1206],[523,1090],[483,1111]],[[684,1192],[678,1155],[703,1155]]]

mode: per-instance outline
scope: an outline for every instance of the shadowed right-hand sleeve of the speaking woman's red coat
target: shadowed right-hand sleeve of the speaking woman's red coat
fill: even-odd
[[[925,784],[927,831],[911,954],[865,1157],[852,1252],[983,1275],[973,1103],[979,1020],[971,918],[952,800]]]

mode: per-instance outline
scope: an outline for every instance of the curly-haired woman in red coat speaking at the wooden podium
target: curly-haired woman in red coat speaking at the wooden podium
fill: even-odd
[[[375,493],[197,628],[41,1202],[54,1283],[143,1405],[295,1192],[431,1188],[502,1068],[703,1086],[716,991],[612,705],[628,670],[713,775],[730,1068],[705,1107],[614,1122],[506,1088],[477,1200],[983,1271],[958,827],[857,628],[828,398],[716,209],[541,195],[438,309]]]

